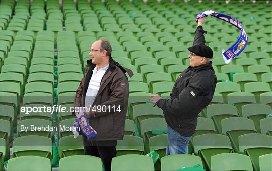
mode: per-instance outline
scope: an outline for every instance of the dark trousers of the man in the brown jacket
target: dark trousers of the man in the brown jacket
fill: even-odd
[[[84,143],[84,154],[100,157],[105,171],[111,170],[111,159],[116,156],[117,140],[87,142]]]

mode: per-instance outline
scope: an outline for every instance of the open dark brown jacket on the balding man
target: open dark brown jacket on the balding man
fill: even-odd
[[[87,64],[87,71],[76,90],[74,107],[85,106],[86,92],[96,66],[91,60],[88,60]],[[97,110],[90,117],[89,124],[97,131],[97,137],[90,139],[91,141],[123,139],[129,89],[125,72],[130,77],[133,75],[130,69],[120,66],[110,57],[109,68],[101,80],[100,88],[93,102],[96,109],[100,108],[98,106],[101,108],[104,106],[104,111],[98,112]]]

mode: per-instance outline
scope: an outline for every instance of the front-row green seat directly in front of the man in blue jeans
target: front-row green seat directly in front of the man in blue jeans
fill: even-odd
[[[168,155],[161,159],[161,170],[170,171],[178,170],[180,168],[193,167],[200,164],[203,167],[201,158],[189,154],[175,154]]]

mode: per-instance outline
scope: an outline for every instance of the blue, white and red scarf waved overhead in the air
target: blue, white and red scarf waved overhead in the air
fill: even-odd
[[[216,13],[212,10],[207,10],[203,13],[198,13],[195,18],[195,21],[197,22],[199,18],[208,17],[209,15],[224,20],[234,25],[241,31],[238,40],[226,51],[224,49],[222,50],[223,59],[225,63],[228,64],[231,62],[232,59],[236,58],[245,49],[248,42],[248,37],[246,35],[245,30],[243,29],[241,22],[239,22],[236,18],[226,14]]]

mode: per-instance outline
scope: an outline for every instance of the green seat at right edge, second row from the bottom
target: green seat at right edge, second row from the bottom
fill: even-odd
[[[259,170],[259,156],[272,153],[272,137],[264,134],[239,136],[239,152],[250,157],[254,170]]]

